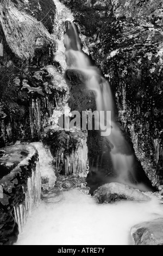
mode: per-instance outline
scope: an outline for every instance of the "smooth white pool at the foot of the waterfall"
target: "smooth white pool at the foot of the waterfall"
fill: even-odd
[[[58,203],[41,203],[16,245],[132,245],[135,224],[162,217],[162,205],[121,201],[98,205],[79,190],[64,192]]]

